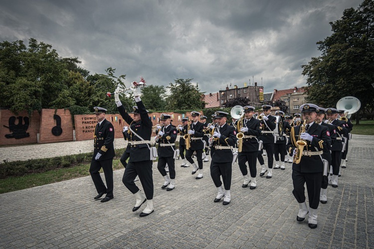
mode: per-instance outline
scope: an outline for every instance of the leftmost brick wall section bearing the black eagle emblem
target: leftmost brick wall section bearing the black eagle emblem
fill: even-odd
[[[11,124],[9,124],[9,119]],[[28,127],[25,125],[27,121],[29,123]],[[4,127],[4,125],[11,127],[13,130]],[[37,111],[32,112],[29,117],[26,111],[15,115],[9,110],[0,110],[0,146],[36,143],[39,126],[40,115]]]

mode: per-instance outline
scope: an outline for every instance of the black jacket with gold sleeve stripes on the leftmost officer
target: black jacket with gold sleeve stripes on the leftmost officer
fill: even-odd
[[[106,119],[103,120],[99,127],[98,125],[99,123],[97,123],[95,127],[93,158],[95,158],[96,154],[99,152],[101,156],[98,161],[103,161],[113,158],[116,155],[113,145],[114,127],[113,124]]]

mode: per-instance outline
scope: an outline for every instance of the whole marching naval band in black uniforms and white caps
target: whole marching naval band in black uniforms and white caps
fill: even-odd
[[[292,163],[292,193],[299,203],[296,220],[302,222],[308,217],[308,226],[311,229],[317,228],[319,203],[327,203],[328,185],[337,188],[340,167],[346,167],[348,140],[351,138],[349,132],[353,128],[351,120],[346,117],[348,114],[346,110],[324,109],[314,104],[304,104],[300,107],[301,114],[292,117],[282,111],[276,111],[273,116],[272,107],[269,105],[263,105],[260,114],[255,113],[255,107],[252,106],[235,106],[230,112],[232,118],[230,123],[227,122],[229,114],[225,112],[215,112],[211,116],[211,123],[207,124],[206,116],[192,111],[191,119],[183,118],[182,125],[177,127],[171,124],[172,116],[168,114],[160,116],[161,124],[152,126],[148,111],[140,99],[138,88],[142,85],[144,84],[134,84],[129,88],[133,91],[136,102],[136,106],[133,107],[134,112],[131,113],[126,112],[119,100],[119,93],[122,90],[117,88],[114,92],[118,111],[128,124],[123,128],[128,146],[121,157],[121,163],[125,167],[122,181],[135,196],[133,212],[144,203],[146,208],[141,212],[140,217],[154,212],[152,163],[157,156],[157,168],[165,179],[161,189],[171,191],[175,189],[175,159],[182,158],[183,168],[192,165],[191,174],[198,171],[195,177],[198,180],[203,178],[203,162],[208,162],[210,155],[210,176],[218,192],[213,202],[220,202],[223,198],[223,205],[231,202],[232,169],[236,163],[243,175],[241,187],[247,188],[249,185],[250,190],[257,188],[256,161],[258,159],[261,166],[259,175],[263,177],[267,172],[266,179],[272,178],[273,168],[284,170],[285,162]],[[102,108],[96,109],[97,113],[106,111]],[[133,114],[133,117],[129,114]],[[152,146],[151,134],[154,127],[156,127],[156,136],[155,144]],[[180,139],[177,148],[178,135]],[[158,144],[157,151],[156,144]],[[99,148],[100,145],[97,146]],[[92,165],[97,164],[97,167],[100,167],[99,158],[106,152],[105,146],[103,147],[101,148],[103,151],[94,154]],[[267,167],[262,156],[263,150],[266,151]],[[193,155],[196,157],[197,164],[192,159]],[[106,159],[104,156],[101,158]],[[128,163],[127,159],[129,159]],[[111,164],[108,168],[111,168]],[[91,172],[99,193],[95,199],[105,193],[107,194],[105,201],[113,199],[113,190],[110,189],[113,188],[111,183],[113,180],[110,179],[112,173],[108,171],[109,178],[106,180],[109,186],[106,188],[101,178],[98,179],[97,172],[96,169],[95,171],[92,169]],[[105,176],[107,178],[107,173]],[[144,194],[134,183],[138,176]],[[305,184],[309,207],[306,203]]]

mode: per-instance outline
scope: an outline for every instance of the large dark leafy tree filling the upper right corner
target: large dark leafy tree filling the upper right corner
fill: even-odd
[[[344,96],[354,96],[363,107],[374,107],[374,1],[364,0],[359,8],[344,10],[343,17],[330,22],[333,34],[317,42],[320,57],[302,65],[307,75],[308,101],[335,107]],[[360,111],[356,122],[359,124]]]

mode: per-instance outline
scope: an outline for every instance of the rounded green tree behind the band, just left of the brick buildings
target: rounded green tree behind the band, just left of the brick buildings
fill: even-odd
[[[201,93],[197,86],[191,83],[193,79],[176,79],[175,84],[170,83],[170,95],[167,98],[169,110],[204,109],[205,102],[201,100]]]

